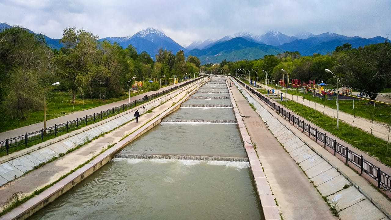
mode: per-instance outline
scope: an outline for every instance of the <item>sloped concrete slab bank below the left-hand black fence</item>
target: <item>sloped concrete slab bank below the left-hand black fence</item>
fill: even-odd
[[[194,85],[194,83],[181,89],[189,88],[192,85]],[[30,148],[1,157],[0,186],[21,177],[30,170],[34,170],[35,167],[41,166],[41,164],[59,157],[59,155],[63,155],[69,150],[73,150],[74,148],[99,137],[103,133],[114,130],[119,126],[132,121],[135,118],[133,114],[136,110],[139,110],[142,115],[148,110],[159,106],[161,102],[176,96],[181,89],[170,92],[169,94],[153,99],[143,105],[136,106],[135,108],[109,117],[98,123],[85,126],[54,139],[36,144]],[[144,106],[145,109],[143,109],[142,106]]]

